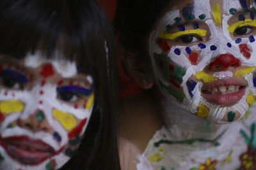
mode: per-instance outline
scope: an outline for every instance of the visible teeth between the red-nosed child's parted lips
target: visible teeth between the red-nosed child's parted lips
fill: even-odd
[[[239,85],[230,85],[228,87],[226,86],[220,86],[220,87],[213,87],[212,89],[204,90],[204,93],[207,94],[230,94],[234,92],[238,92],[241,86]]]

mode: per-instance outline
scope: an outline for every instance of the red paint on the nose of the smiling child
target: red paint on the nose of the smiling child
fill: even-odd
[[[241,66],[241,61],[239,59],[236,59],[234,55],[225,53],[225,54],[221,54],[213,62],[211,62],[211,64],[209,65],[209,68],[211,70],[214,70],[218,67],[218,70],[220,69],[224,70],[233,65],[236,65],[236,67],[239,67]],[[221,66],[221,68],[219,66]]]

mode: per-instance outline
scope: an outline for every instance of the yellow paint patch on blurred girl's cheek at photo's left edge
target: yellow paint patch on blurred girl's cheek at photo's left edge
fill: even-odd
[[[10,114],[24,110],[24,104],[21,101],[4,101],[0,103],[0,112]]]

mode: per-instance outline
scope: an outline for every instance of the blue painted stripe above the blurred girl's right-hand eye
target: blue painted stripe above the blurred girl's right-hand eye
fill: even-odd
[[[92,94],[92,90],[91,89],[86,89],[84,87],[78,87],[76,85],[67,85],[67,86],[63,86],[63,87],[57,87],[57,92],[61,93],[61,92],[75,92],[77,94],[81,94],[83,96],[89,96],[90,94]]]

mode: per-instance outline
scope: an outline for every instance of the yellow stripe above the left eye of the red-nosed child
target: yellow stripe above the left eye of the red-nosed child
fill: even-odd
[[[206,30],[204,29],[189,29],[186,31],[179,31],[179,32],[175,32],[173,34],[168,34],[166,32],[160,32],[159,34],[159,38],[164,38],[164,39],[176,39],[179,36],[184,36],[187,34],[196,34],[198,36],[205,36],[206,35]]]

